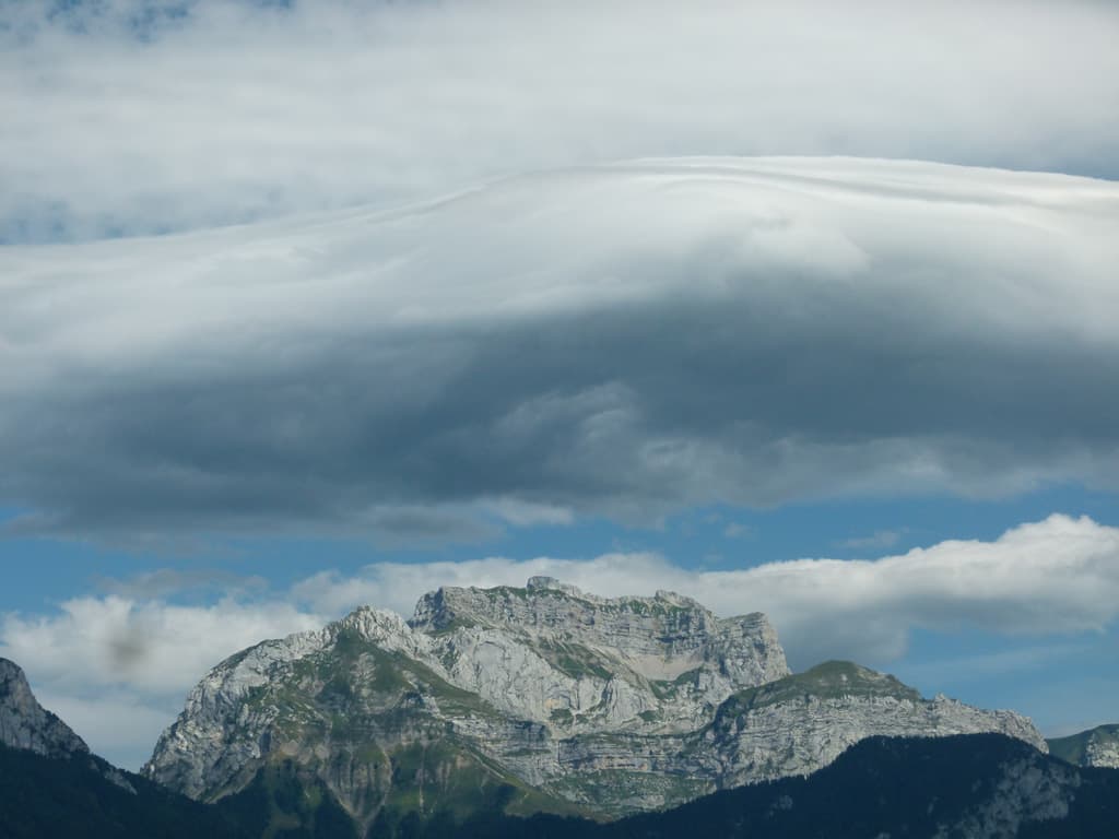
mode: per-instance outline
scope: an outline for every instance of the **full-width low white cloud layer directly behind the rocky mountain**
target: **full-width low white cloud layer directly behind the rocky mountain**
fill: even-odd
[[[918,628],[981,629],[1027,641],[1103,632],[1119,618],[1119,528],[1052,516],[994,541],[943,541],[876,560],[800,559],[739,571],[686,569],[647,554],[386,563],[355,576],[316,575],[283,597],[184,606],[107,595],[69,601],[49,615],[8,614],[0,622],[0,654],[22,663],[35,687],[56,709],[70,711],[95,748],[138,765],[143,757],[138,735],[122,720],[134,716],[144,732],[154,732],[157,720],[169,723],[182,695],[227,654],[320,625],[359,604],[407,615],[435,585],[523,585],[535,574],[603,595],[668,588],[722,615],[763,611],[796,668],[827,658],[884,666],[903,659],[908,635]],[[1045,650],[1061,649],[1060,643],[1043,642],[1041,651],[1049,654]],[[1036,658],[1036,651],[1008,654],[1004,669]],[[953,673],[941,661],[937,672],[974,678],[976,663],[965,659]],[[1059,719],[1054,709],[1036,710]]]

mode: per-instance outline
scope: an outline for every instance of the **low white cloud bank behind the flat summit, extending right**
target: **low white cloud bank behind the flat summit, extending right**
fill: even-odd
[[[943,541],[875,560],[798,559],[736,571],[683,568],[656,554],[590,560],[489,558],[322,573],[297,601],[338,613],[374,603],[402,614],[441,585],[524,585],[554,576],[595,594],[687,594],[722,615],[765,612],[790,659],[882,664],[903,656],[914,628],[1015,637],[1103,631],[1119,616],[1119,528],[1054,515],[994,541]]]

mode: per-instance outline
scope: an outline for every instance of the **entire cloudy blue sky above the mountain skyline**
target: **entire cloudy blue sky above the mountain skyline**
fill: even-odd
[[[1119,722],[1119,7],[0,0],[0,656],[549,574]]]

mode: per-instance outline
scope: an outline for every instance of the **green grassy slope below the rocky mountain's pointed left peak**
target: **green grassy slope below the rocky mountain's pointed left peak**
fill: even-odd
[[[329,650],[294,662],[290,679],[254,690],[252,707],[276,709],[273,741],[281,748],[245,790],[215,798],[256,801],[257,811],[272,814],[265,823],[278,836],[316,823],[299,808],[278,810],[278,792],[291,800],[283,791],[292,784],[316,800],[327,794],[339,801],[358,824],[382,812],[380,821],[389,823],[410,813],[424,822],[444,814],[461,821],[479,812],[576,812],[496,766],[434,717],[424,697],[460,716],[499,718],[485,700],[423,663],[342,631]],[[329,748],[326,757],[318,754],[321,746]]]

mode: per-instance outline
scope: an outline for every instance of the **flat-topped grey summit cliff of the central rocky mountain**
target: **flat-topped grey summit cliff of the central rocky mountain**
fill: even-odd
[[[764,615],[720,620],[669,592],[608,600],[533,577],[441,588],[408,623],[453,685],[568,735],[692,730],[734,690],[789,673]]]

